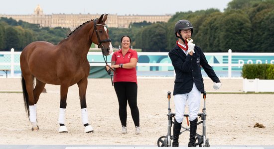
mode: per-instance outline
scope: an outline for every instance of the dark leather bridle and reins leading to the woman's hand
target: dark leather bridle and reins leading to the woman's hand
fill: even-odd
[[[101,25],[101,26],[104,26],[104,27],[107,26],[107,25],[96,24],[96,20],[97,20],[97,19],[94,20],[94,23],[93,23],[93,24],[94,24],[94,29],[93,29],[93,32],[92,32],[91,35],[93,35],[93,33],[94,33],[94,31],[95,31],[96,36],[97,36],[97,39],[98,39],[98,42],[99,42],[98,48],[100,48],[100,49],[102,50],[103,58],[104,58],[104,61],[105,61],[105,63],[106,63],[106,66],[107,66],[107,65],[108,65],[108,57],[106,56],[106,59],[105,59],[105,57],[104,57],[104,51],[103,51],[104,46],[102,45],[102,43],[104,43],[104,42],[111,42],[111,39],[110,39],[110,38],[109,38],[109,39],[105,39],[105,40],[101,40],[101,39],[100,39],[100,37],[99,37],[99,35],[98,35],[98,32],[97,32],[97,25]],[[107,71],[106,66],[105,66],[105,70]],[[114,86],[114,85],[113,85],[113,80],[112,80],[112,76],[114,76],[114,75],[111,73],[111,70],[115,72],[115,70],[112,69],[111,67],[110,67],[110,70],[107,71],[107,72],[108,72],[108,74],[111,76],[111,83],[112,83],[112,86]]]

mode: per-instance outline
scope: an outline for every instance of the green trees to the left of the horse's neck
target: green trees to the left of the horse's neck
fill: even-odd
[[[0,51],[22,51],[29,43],[37,40],[58,44],[70,33],[69,28],[40,27],[39,24],[30,24],[12,18],[0,18]]]

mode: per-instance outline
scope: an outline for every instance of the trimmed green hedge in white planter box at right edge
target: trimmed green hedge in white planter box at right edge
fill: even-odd
[[[241,74],[247,79],[274,79],[274,64],[244,64]]]

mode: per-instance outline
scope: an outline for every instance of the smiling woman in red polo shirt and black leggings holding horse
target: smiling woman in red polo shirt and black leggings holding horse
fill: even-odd
[[[136,134],[140,134],[139,110],[137,107],[137,52],[130,48],[131,38],[121,38],[122,49],[112,55],[111,67],[115,69],[114,88],[119,102],[119,116],[122,134],[127,134],[127,104],[129,102]],[[106,66],[107,71],[110,69]]]

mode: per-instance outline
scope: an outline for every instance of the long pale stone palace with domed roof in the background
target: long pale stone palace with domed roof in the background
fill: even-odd
[[[41,27],[64,27],[75,29],[79,25],[91,19],[99,18],[102,14],[44,14],[40,5],[37,5],[33,14],[29,15],[6,15],[0,14],[0,17],[7,17],[22,20],[28,23],[40,24]],[[108,14],[106,24],[108,27],[128,28],[130,23],[134,22],[167,22],[171,15],[117,15]]]

